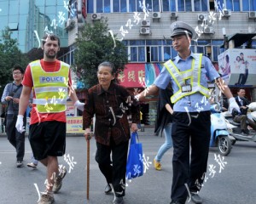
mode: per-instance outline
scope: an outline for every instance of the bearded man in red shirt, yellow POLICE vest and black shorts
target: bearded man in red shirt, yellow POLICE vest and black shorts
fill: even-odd
[[[33,91],[28,138],[33,156],[47,168],[46,190],[38,203],[51,204],[55,201],[53,193],[61,189],[67,173],[64,166],[59,169],[57,158],[63,156],[66,149],[67,97],[80,110],[84,109],[84,103],[79,102],[72,88],[70,66],[56,59],[60,38],[45,35],[42,44],[44,59],[33,61],[26,67],[16,128],[23,133],[23,116]]]

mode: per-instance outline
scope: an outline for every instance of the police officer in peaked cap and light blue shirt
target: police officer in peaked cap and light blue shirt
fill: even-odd
[[[239,111],[239,107],[211,60],[202,54],[194,54],[189,49],[191,39],[196,36],[195,30],[188,24],[177,21],[172,23],[171,32],[172,46],[178,53],[177,57],[168,60],[154,84],[136,98],[140,100],[148,95],[157,94],[159,88],[165,89],[168,83],[172,82],[174,149],[171,204],[185,203],[188,195],[191,195],[191,200],[195,203],[202,203],[198,192],[207,172],[211,137],[207,78],[210,81],[215,80],[218,88],[229,99],[230,110],[236,108]]]

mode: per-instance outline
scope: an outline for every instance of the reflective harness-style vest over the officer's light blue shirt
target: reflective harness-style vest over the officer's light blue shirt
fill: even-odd
[[[200,83],[201,59],[202,54],[195,54],[195,59],[192,59],[191,69],[187,71],[179,71],[171,59],[166,61],[164,64],[178,87],[178,91],[171,97],[172,104],[175,104],[177,100],[183,98],[184,96],[195,94],[196,92],[200,92],[207,98],[210,97],[209,89],[201,86]],[[186,80],[188,79],[190,79],[190,89],[189,91],[184,91],[184,89],[188,87],[188,84],[186,84]]]

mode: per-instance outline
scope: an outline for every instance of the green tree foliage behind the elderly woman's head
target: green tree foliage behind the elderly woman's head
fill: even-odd
[[[124,71],[128,56],[125,45],[116,36],[108,29],[108,19],[85,23],[76,40],[73,69],[86,88],[97,84],[97,67],[103,61],[113,63],[116,75]]]

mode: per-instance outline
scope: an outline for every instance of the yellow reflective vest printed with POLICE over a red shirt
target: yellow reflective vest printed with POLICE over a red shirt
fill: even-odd
[[[67,88],[69,65],[61,62],[61,69],[46,72],[40,65],[40,60],[30,63],[34,84],[35,99],[40,113],[55,113],[67,109]]]

